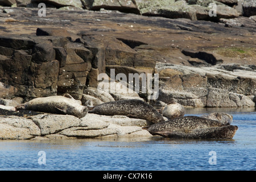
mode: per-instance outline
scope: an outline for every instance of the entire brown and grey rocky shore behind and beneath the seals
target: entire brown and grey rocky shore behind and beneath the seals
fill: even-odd
[[[47,1],[46,16],[39,16],[38,3],[0,1],[1,139],[152,137],[143,119],[12,110],[65,93],[93,106],[138,99],[159,108],[170,101],[255,107],[255,1]],[[217,7],[212,18],[210,3]],[[158,73],[159,97],[99,92],[98,75],[110,77],[111,69],[114,76]],[[115,80],[117,90],[129,90],[121,84]]]

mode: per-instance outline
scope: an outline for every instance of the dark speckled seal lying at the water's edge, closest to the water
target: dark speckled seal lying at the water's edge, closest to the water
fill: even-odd
[[[171,138],[230,138],[238,127],[212,119],[187,116],[155,123],[143,129],[152,135]]]

